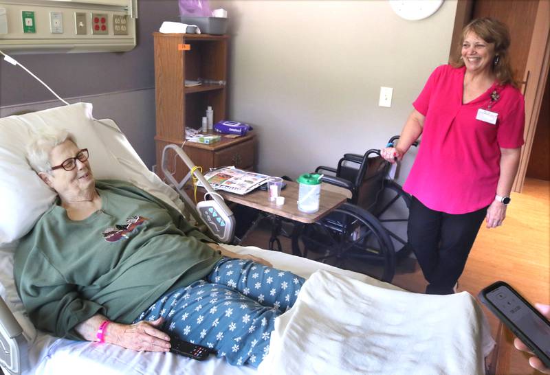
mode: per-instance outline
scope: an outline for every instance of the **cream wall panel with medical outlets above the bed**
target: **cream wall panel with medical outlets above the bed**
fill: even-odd
[[[0,0],[5,53],[124,52],[136,45],[137,0]]]

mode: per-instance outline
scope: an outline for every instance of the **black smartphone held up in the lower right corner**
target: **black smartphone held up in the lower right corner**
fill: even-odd
[[[544,315],[503,281],[487,286],[478,297],[544,365],[550,367],[550,322]]]

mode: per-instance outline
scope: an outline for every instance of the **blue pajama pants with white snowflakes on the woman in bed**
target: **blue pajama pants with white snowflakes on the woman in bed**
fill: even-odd
[[[232,365],[258,367],[275,318],[294,305],[304,282],[252,260],[222,258],[205,280],[166,293],[135,322],[164,317],[170,336],[212,348]]]

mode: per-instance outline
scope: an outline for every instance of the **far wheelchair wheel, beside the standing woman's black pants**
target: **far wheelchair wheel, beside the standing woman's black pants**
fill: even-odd
[[[371,211],[386,229],[398,258],[408,255],[410,251],[406,246],[409,207],[410,195],[395,181],[385,179],[384,190]]]

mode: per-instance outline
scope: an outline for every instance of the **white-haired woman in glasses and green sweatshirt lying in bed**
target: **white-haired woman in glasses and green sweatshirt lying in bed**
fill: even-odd
[[[88,156],[66,131],[35,135],[29,148],[58,194],[15,255],[36,327],[155,352],[179,337],[257,367],[303,278],[219,247],[129,183],[95,181]]]

